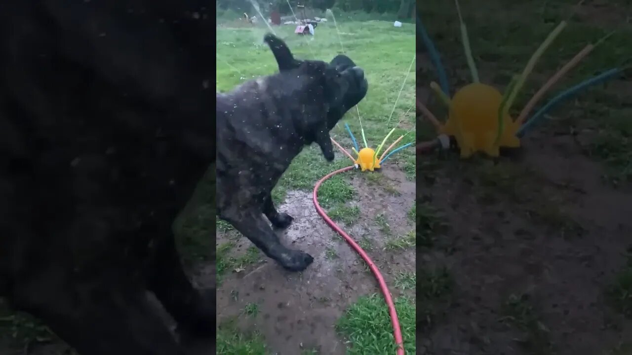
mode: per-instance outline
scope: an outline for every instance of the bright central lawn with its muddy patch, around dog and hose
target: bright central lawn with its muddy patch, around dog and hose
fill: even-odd
[[[370,147],[377,147],[394,127],[389,144],[404,134],[400,144],[415,141],[415,28],[341,15],[336,20],[339,33],[331,17],[316,28],[314,37],[295,35],[292,25],[274,31],[296,57],[330,61],[344,52],[364,69],[367,97],[343,119],[361,145],[358,112]],[[217,28],[218,91],[277,70],[262,44],[266,31],[265,25]],[[331,135],[351,152],[343,122]],[[414,154],[408,148],[392,155],[381,172],[348,172],[319,190],[321,205],[385,274],[410,354],[415,353]],[[306,147],[274,190],[279,210],[297,217],[281,236],[284,243],[315,256],[305,272],[284,272],[250,241],[218,222],[217,343],[222,354],[386,354],[394,349],[386,304],[374,278],[315,213],[310,198],[322,176],[349,164],[339,151],[330,164],[318,147]]]

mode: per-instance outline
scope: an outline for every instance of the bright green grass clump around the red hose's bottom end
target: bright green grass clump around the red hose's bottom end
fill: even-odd
[[[400,297],[395,300],[404,350],[415,354],[415,301]],[[363,296],[349,306],[336,325],[349,341],[348,355],[394,354],[396,349],[391,320],[381,295]]]

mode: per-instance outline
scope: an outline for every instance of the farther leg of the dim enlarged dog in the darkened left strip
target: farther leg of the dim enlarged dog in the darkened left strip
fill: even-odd
[[[215,289],[201,292],[193,287],[182,269],[171,228],[164,226],[161,230],[169,236],[154,245],[150,291],[185,332],[200,336],[215,334]]]

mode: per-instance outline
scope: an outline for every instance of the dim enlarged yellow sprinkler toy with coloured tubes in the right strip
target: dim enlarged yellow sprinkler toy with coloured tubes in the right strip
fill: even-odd
[[[461,9],[459,8],[458,0],[454,0],[456,3],[456,11],[459,16],[459,22],[461,23],[461,37],[463,41],[463,47],[465,55],[470,68],[472,83],[465,85],[454,93],[452,99],[449,98],[449,88],[447,86],[446,73],[441,65],[441,59],[439,53],[432,44],[432,40],[428,37],[428,34],[423,28],[423,23],[419,16],[417,17],[417,32],[422,37],[425,45],[430,54],[437,73],[439,74],[439,82],[441,87],[434,81],[430,83],[430,88],[437,95],[439,100],[447,108],[447,121],[445,124],[439,122],[439,120],[430,112],[425,105],[419,100],[416,100],[416,106],[421,111],[423,116],[427,117],[428,121],[434,124],[437,129],[437,133],[441,136],[453,136],[454,140],[458,144],[461,158],[470,157],[473,153],[483,152],[491,157],[497,157],[500,153],[501,147],[518,148],[520,147],[520,137],[524,135],[525,131],[533,126],[545,112],[551,107],[558,104],[561,100],[571,97],[574,93],[581,89],[594,85],[611,78],[623,71],[623,68],[613,68],[600,75],[597,75],[589,80],[569,88],[565,92],[562,92],[557,97],[554,97],[550,102],[542,109],[537,111],[533,116],[526,120],[527,116],[533,110],[533,107],[537,102],[544,97],[544,94],[561,79],[568,71],[570,71],[581,59],[586,57],[600,42],[607,39],[612,33],[609,33],[604,38],[599,40],[595,44],[588,44],[580,51],[576,56],[571,59],[566,65],[562,66],[559,71],[552,76],[543,86],[538,90],[532,99],[527,102],[524,109],[520,112],[518,117],[514,120],[509,114],[518,93],[525,85],[525,81],[528,75],[532,73],[533,68],[538,59],[544,54],[546,49],[554,42],[558,35],[564,30],[567,25],[567,21],[561,21],[544,42],[533,53],[533,56],[527,62],[525,69],[523,69],[520,75],[514,75],[513,79],[507,85],[504,93],[499,92],[496,88],[480,83],[478,78],[478,71],[474,63],[473,56],[470,49],[470,40],[468,39],[467,28],[463,22],[461,16]],[[438,141],[437,141],[438,142]],[[435,145],[439,143],[435,142]],[[444,145],[446,147],[446,145]]]

